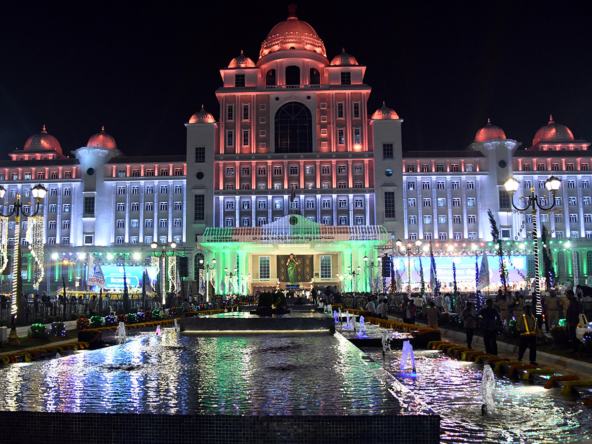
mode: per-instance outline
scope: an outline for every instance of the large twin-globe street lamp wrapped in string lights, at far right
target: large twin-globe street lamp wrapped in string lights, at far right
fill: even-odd
[[[518,211],[526,211],[530,208],[530,213],[532,214],[532,239],[535,249],[535,294],[532,295],[532,308],[533,312],[536,313],[536,317],[541,319],[542,318],[542,307],[540,304],[537,306],[537,301],[539,297],[539,243],[538,243],[538,227],[536,224],[536,208],[540,208],[541,210],[551,210],[555,207],[555,193],[559,190],[561,186],[561,179],[556,178],[555,176],[549,177],[545,181],[545,188],[547,191],[550,191],[553,195],[552,204],[549,207],[544,207],[538,201],[538,198],[535,195],[535,187],[530,187],[530,195],[529,196],[521,196],[526,200],[526,206],[521,208],[514,204],[514,194],[518,191],[518,187],[520,182],[510,176],[506,182],[504,182],[504,188],[510,194],[510,200],[512,202],[512,207],[516,208]]]

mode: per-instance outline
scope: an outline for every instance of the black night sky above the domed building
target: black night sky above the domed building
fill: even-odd
[[[43,124],[65,154],[104,125],[127,156],[184,155],[189,117],[218,118],[218,70],[257,62],[288,3],[4,2],[0,160]],[[397,111],[406,151],[465,149],[488,117],[529,147],[550,113],[592,141],[585,2],[297,4],[329,60],[367,66],[369,112]]]

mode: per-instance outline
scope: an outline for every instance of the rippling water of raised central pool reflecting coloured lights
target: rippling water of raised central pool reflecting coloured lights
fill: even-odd
[[[205,337],[169,330],[159,338],[144,334],[122,346],[1,369],[0,400],[5,410],[67,412],[427,412],[392,381],[390,388],[383,384],[379,372],[339,335]]]

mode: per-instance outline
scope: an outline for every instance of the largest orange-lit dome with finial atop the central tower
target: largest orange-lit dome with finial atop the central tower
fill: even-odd
[[[281,50],[304,49],[327,57],[323,40],[317,31],[296,17],[295,5],[288,7],[288,20],[275,25],[261,45],[259,58]]]

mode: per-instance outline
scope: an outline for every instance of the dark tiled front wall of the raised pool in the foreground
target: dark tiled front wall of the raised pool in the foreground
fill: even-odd
[[[2,411],[2,442],[436,444],[436,415],[230,416]]]

